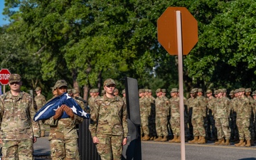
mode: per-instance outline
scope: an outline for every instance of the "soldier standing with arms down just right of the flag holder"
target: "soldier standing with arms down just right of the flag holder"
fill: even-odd
[[[95,99],[91,110],[92,142],[102,160],[121,160],[122,146],[127,144],[127,107],[114,95],[114,80],[105,80],[103,86],[106,94]]]

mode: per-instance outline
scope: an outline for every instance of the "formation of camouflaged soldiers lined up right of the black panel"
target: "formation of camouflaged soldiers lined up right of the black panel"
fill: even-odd
[[[151,90],[139,90],[144,141],[181,142],[178,89],[171,89],[170,99],[165,95],[166,90],[160,88],[156,98],[151,96]],[[225,88],[207,90],[206,97],[201,88],[193,88],[188,100],[184,97],[186,142],[205,144],[209,140],[215,145],[254,145],[256,91],[241,87],[231,90],[229,96]]]

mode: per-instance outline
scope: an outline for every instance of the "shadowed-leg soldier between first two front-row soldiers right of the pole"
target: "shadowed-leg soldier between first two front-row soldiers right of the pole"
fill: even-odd
[[[216,93],[216,92],[215,92]],[[212,90],[206,90],[206,100],[207,100],[207,118],[208,118],[208,128],[206,132],[208,132],[208,136],[211,141],[215,142],[216,139],[216,127],[215,127],[215,120],[213,118],[213,107],[215,104],[215,97],[213,97]]]

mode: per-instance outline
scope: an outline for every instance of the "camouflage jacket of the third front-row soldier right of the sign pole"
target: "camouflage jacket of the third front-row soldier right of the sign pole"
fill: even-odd
[[[252,108],[250,107],[250,101],[247,97],[239,97],[238,105],[234,110],[237,112],[237,119],[248,119],[250,118]]]

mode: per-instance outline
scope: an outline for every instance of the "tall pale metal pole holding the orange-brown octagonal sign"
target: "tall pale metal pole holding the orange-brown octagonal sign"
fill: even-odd
[[[185,160],[185,134],[184,134],[184,104],[183,104],[183,63],[182,63],[182,33],[181,33],[181,11],[176,11],[177,42],[178,42],[178,87],[180,106],[180,127],[181,127],[181,160]]]

